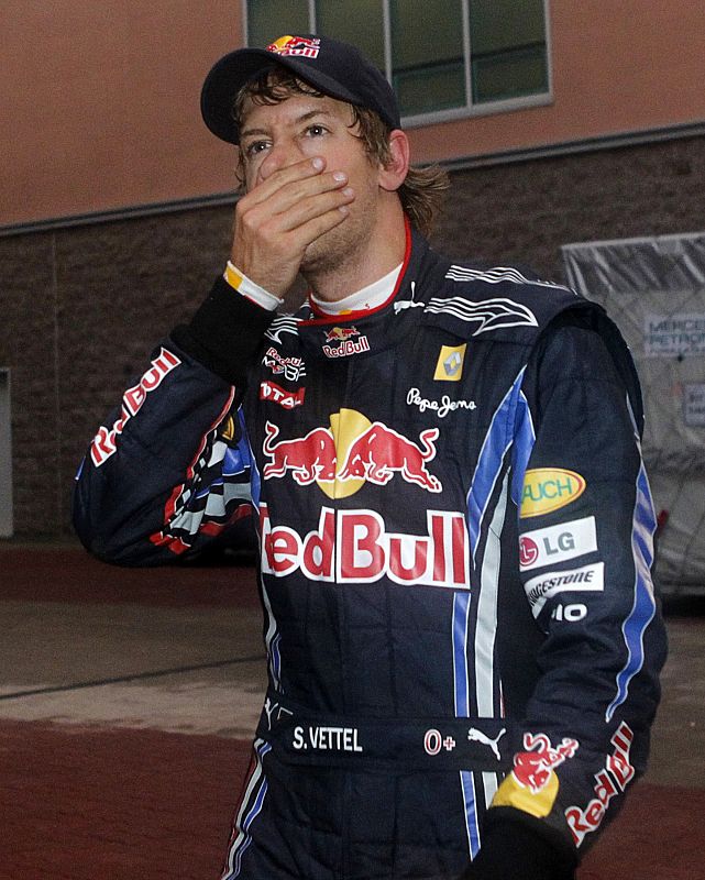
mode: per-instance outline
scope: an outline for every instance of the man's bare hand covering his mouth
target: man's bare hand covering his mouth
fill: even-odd
[[[317,156],[278,168],[238,202],[233,264],[271,294],[294,284],[308,245],[342,223],[354,194]]]

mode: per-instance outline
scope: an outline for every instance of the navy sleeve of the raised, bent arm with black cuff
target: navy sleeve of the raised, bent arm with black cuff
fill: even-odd
[[[175,561],[249,512],[240,402],[273,312],[218,279],[189,324],[155,349],[76,477],[74,525],[99,559]]]

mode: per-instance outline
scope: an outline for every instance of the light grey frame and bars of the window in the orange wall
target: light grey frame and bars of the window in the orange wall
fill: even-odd
[[[242,3],[242,28],[245,35],[245,45],[249,45],[247,28],[247,2]],[[392,14],[389,11],[389,0],[381,0],[384,21],[384,74],[392,82]],[[470,2],[471,0],[458,0],[462,6],[463,18],[463,62],[465,73],[465,95],[467,101],[464,107],[453,107],[445,110],[429,110],[423,113],[412,113],[401,117],[401,125],[405,129],[416,129],[425,125],[436,125],[441,122],[454,122],[462,119],[473,119],[475,117],[494,116],[498,113],[510,113],[515,110],[528,110],[535,107],[547,107],[553,103],[553,64],[552,64],[552,42],[551,42],[551,10],[550,0],[543,2],[543,22],[546,28],[546,66],[548,88],[537,95],[522,95],[514,98],[499,98],[495,101],[482,101],[475,103],[472,92],[472,46],[470,40]],[[317,33],[316,29],[316,0],[307,0],[309,33]]]

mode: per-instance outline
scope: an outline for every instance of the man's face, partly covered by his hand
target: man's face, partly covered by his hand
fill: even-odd
[[[352,123],[351,107],[329,97],[295,94],[280,103],[250,101],[244,108],[240,148],[247,191],[287,165],[321,156],[327,172],[348,175],[348,186],[355,194],[345,220],[308,246],[304,273],[354,258],[374,228],[379,168],[365,153]]]

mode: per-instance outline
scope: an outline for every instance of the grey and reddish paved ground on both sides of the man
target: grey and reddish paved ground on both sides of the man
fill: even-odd
[[[254,570],[5,542],[0,618],[0,880],[214,880],[265,686]],[[705,598],[668,625],[650,769],[581,880],[705,878]]]

